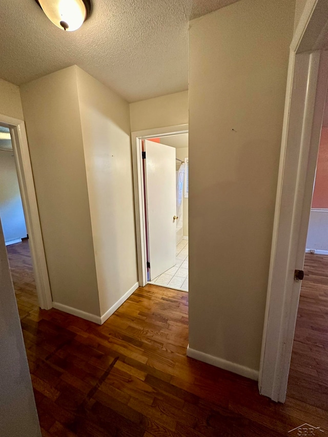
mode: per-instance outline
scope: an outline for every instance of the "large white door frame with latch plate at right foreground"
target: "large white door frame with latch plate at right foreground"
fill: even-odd
[[[307,0],[290,47],[259,390],[284,402],[328,79],[326,0]],[[297,91],[304,82],[302,93]]]

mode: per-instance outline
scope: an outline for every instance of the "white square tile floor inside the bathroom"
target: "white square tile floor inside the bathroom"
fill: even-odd
[[[174,267],[157,276],[152,283],[167,285],[188,292],[189,261],[188,261],[188,240],[181,240],[176,245],[176,263]]]

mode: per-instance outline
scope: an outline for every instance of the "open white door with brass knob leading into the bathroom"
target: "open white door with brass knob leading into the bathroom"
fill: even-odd
[[[150,280],[175,265],[175,148],[145,140],[145,185]]]

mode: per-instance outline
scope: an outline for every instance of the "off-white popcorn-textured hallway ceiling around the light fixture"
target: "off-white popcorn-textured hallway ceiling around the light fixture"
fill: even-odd
[[[91,0],[75,32],[34,0],[2,2],[0,77],[21,85],[78,65],[128,101],[188,88],[188,20],[237,0]]]

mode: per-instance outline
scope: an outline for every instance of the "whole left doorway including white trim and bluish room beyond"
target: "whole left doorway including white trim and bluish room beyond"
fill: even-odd
[[[0,114],[0,129],[0,232],[5,237],[16,297],[22,300],[21,313],[27,312],[29,299],[31,306],[50,309],[52,296],[25,123]]]

